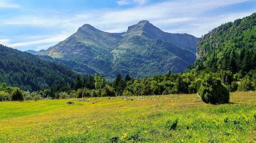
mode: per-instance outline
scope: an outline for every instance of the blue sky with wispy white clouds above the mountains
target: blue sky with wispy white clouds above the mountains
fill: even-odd
[[[126,32],[141,20],[165,32],[201,37],[255,12],[256,0],[0,0],[0,44],[47,49],[83,24]]]

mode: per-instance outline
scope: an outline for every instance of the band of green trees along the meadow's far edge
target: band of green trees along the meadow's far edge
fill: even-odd
[[[169,71],[165,75],[157,75],[152,78],[130,78],[129,74],[118,74],[113,82],[107,82],[104,76],[94,74],[90,76],[78,75],[72,82],[60,81],[52,84],[50,88],[34,92],[22,91],[17,87],[9,87],[2,83],[0,87],[0,101],[16,101],[12,98],[13,91],[22,91],[22,98],[18,100],[40,99],[64,99],[64,98],[89,98],[89,97],[113,97],[133,95],[167,95],[167,94],[191,94],[200,92],[200,87],[207,75],[216,78],[228,91],[253,91],[256,90],[256,70],[251,70],[239,79],[229,70],[212,72],[211,68],[197,68],[180,74]],[[209,78],[209,77],[208,77]]]

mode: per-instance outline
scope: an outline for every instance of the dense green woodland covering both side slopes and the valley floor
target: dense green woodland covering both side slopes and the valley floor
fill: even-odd
[[[198,59],[185,72],[173,74],[169,70],[152,78],[117,74],[110,82],[102,75],[75,74],[54,63],[46,65],[32,54],[20,58],[17,50],[12,52],[3,45],[0,48],[1,57],[5,57],[0,59],[0,81],[6,82],[0,86],[0,101],[17,100],[13,96],[20,89],[24,90],[22,96],[17,95],[20,100],[198,93],[207,80],[221,83],[228,89],[225,92],[256,90],[256,13],[222,24],[201,37]],[[34,63],[28,63],[31,58]],[[47,66],[62,69],[48,71]]]

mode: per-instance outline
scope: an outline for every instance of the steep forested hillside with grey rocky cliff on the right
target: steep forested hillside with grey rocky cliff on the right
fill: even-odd
[[[256,13],[228,22],[204,35],[197,45],[197,60],[213,70],[230,70],[244,75],[256,68]]]

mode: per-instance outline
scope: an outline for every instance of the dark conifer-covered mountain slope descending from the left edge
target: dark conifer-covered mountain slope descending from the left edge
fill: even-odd
[[[5,82],[25,91],[43,90],[60,81],[71,83],[77,76],[67,67],[1,44],[0,57],[0,83]]]

